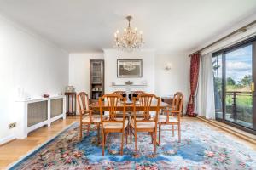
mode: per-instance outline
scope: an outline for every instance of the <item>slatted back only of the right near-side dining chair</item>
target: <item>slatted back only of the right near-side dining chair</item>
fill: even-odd
[[[156,102],[156,110],[154,119],[151,119],[150,111],[152,111],[151,107],[153,100],[154,102]],[[139,103],[138,106],[141,107],[141,110],[143,112],[143,116],[140,117],[138,120],[136,117],[137,101]],[[133,111],[135,122],[157,122],[158,114],[160,112],[160,98],[155,96],[154,94],[139,94],[136,98],[133,98]]]

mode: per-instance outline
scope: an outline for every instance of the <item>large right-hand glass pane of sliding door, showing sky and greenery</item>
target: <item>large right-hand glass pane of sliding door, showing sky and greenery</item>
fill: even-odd
[[[224,58],[224,120],[253,128],[253,45],[227,52]]]

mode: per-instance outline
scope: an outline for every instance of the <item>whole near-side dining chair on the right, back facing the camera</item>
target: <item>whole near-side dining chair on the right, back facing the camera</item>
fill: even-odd
[[[137,104],[138,103],[138,104]],[[152,117],[149,111],[155,105],[155,115]],[[140,110],[143,116],[137,117]],[[160,112],[160,98],[154,94],[139,94],[133,98],[133,118],[131,119],[131,133],[134,135],[135,151],[137,152],[137,133],[148,132],[151,134],[151,142],[154,144],[154,155],[156,153],[157,120]],[[131,116],[132,117],[132,116]],[[130,135],[131,135],[130,133]],[[130,136],[131,138],[131,136]]]

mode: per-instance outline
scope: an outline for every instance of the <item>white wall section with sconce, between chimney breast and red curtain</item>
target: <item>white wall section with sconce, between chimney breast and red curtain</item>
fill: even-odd
[[[167,63],[172,65],[166,71]],[[167,96],[180,91],[184,94],[184,110],[186,111],[189,99],[189,67],[188,54],[158,54],[155,56],[155,93]]]

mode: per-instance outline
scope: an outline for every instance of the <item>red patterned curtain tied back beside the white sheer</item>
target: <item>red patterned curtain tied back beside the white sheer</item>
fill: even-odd
[[[198,75],[199,75],[200,53],[190,55],[190,97],[187,107],[188,116],[197,116],[194,112],[195,109],[195,91],[197,88]]]

